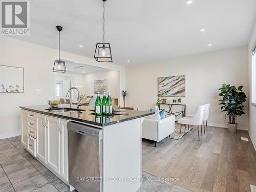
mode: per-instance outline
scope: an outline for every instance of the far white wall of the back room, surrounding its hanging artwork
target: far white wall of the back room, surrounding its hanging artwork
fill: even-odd
[[[108,83],[106,89],[111,93],[111,98],[118,98],[118,94],[120,92],[118,86],[119,72],[115,70],[84,74],[84,92],[86,92],[87,95],[94,95],[94,81],[103,79],[106,79]]]

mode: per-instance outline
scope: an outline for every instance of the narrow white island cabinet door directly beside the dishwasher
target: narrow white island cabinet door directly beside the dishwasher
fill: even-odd
[[[69,156],[68,156],[68,120],[60,119],[60,177],[69,181]]]

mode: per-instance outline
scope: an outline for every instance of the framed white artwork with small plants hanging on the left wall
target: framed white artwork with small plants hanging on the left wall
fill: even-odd
[[[24,68],[0,65],[0,93],[24,93]]]

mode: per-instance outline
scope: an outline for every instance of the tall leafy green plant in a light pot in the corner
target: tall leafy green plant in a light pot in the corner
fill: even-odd
[[[237,116],[241,116],[244,113],[244,105],[243,102],[246,101],[246,95],[242,91],[243,86],[239,86],[238,89],[235,86],[230,86],[230,84],[223,84],[222,88],[219,90],[220,96],[223,99],[219,100],[222,112],[226,112],[226,116],[228,116],[228,131],[236,132],[237,131]]]

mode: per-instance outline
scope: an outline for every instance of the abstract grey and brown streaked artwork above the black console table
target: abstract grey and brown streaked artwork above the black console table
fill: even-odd
[[[158,94],[163,97],[185,97],[185,75],[159,77]]]

